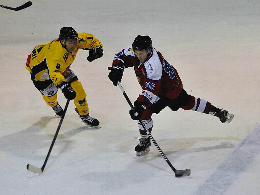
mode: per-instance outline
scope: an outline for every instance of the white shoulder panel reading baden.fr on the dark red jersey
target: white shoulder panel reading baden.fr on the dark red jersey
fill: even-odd
[[[147,78],[160,80],[162,77],[162,64],[156,50],[153,48],[152,56],[144,63]]]

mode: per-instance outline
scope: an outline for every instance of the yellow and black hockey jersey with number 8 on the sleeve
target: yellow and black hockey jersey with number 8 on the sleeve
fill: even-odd
[[[54,39],[47,45],[38,45],[28,55],[26,69],[31,72],[31,79],[51,79],[55,86],[65,81],[63,72],[72,64],[79,49],[102,47],[102,43],[89,33],[78,33],[77,46],[73,53],[68,52],[61,44],[60,39]]]

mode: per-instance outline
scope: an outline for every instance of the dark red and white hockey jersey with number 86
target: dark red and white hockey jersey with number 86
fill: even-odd
[[[132,47],[126,47],[115,54],[113,66],[123,68],[134,66],[137,80],[143,89],[137,101],[146,104],[147,108],[159,100],[159,94],[173,99],[181,92],[182,82],[177,70],[155,48],[152,49],[148,59],[140,63]]]

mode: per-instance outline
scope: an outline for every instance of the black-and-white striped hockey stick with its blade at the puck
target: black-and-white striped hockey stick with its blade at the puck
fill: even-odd
[[[126,98],[126,101],[128,102],[129,106],[131,107],[131,109],[134,109],[133,104],[131,103],[130,99],[128,98],[128,96],[126,95],[125,90],[123,89],[121,83],[118,81],[118,86],[120,88],[120,90],[122,91],[123,95]],[[142,127],[144,128],[145,132],[148,134],[148,136],[150,137],[150,139],[152,140],[152,142],[154,143],[155,147],[159,150],[159,152],[161,153],[162,157],[164,158],[164,160],[166,160],[166,162],[168,163],[168,165],[172,168],[172,170],[175,173],[175,177],[182,177],[182,176],[189,176],[191,174],[191,169],[185,169],[185,170],[178,170],[176,168],[174,168],[172,166],[172,163],[169,161],[169,159],[165,156],[165,154],[162,152],[161,148],[158,146],[158,144],[156,143],[156,141],[153,139],[153,136],[151,135],[151,133],[148,131],[148,129],[145,127],[142,119],[139,117],[138,121],[141,123]]]

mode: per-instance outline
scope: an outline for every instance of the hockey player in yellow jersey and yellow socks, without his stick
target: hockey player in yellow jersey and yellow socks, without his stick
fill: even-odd
[[[26,69],[31,73],[31,80],[55,114],[63,114],[57,102],[59,88],[67,99],[74,100],[75,111],[82,122],[100,128],[99,121],[89,115],[86,92],[70,65],[79,49],[89,50],[87,60],[91,62],[102,57],[102,48],[102,43],[92,34],[77,33],[72,27],[63,27],[59,38],[47,45],[36,46],[28,55]]]

